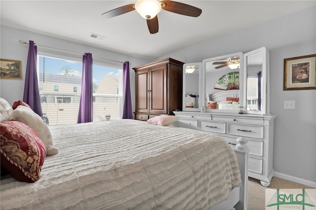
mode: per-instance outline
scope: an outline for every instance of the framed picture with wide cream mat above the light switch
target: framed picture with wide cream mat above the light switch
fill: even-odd
[[[284,59],[283,90],[316,89],[316,54]]]

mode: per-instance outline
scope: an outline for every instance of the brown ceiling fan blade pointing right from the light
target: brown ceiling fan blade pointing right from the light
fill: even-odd
[[[186,15],[186,16],[191,16],[191,17],[198,17],[201,13],[202,10],[195,7],[191,6],[189,4],[173,1],[173,0],[162,0],[160,1],[161,7],[164,10],[167,10],[169,12],[174,12],[180,15]]]

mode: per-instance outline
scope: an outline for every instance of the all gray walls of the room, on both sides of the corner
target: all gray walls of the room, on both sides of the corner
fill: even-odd
[[[97,57],[130,61],[132,108],[135,110],[135,74],[132,67],[150,61],[4,26],[1,26],[0,33],[1,58],[21,60],[23,76],[28,45],[19,44],[19,39],[34,40],[40,45],[69,51],[90,52]],[[277,115],[274,134],[276,176],[316,187],[316,90],[283,91],[283,59],[316,53],[315,6],[155,60],[171,57],[194,63],[234,52],[248,52],[262,46],[270,51],[271,113]],[[1,98],[12,104],[23,97],[24,79],[1,79],[0,88]],[[283,109],[283,101],[287,100],[295,101],[295,109]]]

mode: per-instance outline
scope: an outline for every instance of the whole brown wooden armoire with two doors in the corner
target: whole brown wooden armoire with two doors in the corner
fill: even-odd
[[[182,110],[183,62],[166,58],[133,68],[135,70],[135,119],[148,120]]]

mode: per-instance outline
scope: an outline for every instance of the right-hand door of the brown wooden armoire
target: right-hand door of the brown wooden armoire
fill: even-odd
[[[167,65],[150,69],[150,113],[167,113]]]

